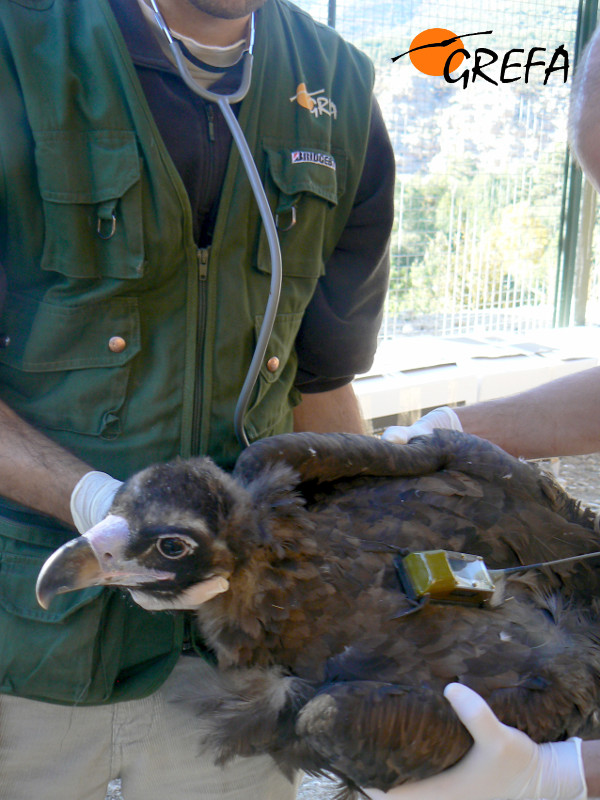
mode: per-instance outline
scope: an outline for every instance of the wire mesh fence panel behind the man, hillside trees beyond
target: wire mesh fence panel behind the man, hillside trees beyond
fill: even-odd
[[[327,20],[327,0],[299,5]],[[576,0],[338,0],[336,28],[375,63],[396,154],[382,337],[552,324],[577,13]],[[431,28],[463,36],[460,80],[392,61]],[[547,74],[561,47],[568,71],[559,55]],[[489,51],[491,80],[473,70]],[[526,74],[528,58],[541,63]]]

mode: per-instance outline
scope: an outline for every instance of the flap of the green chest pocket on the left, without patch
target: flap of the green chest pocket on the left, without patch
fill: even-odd
[[[140,180],[130,131],[37,132],[35,158],[40,193],[53,203],[104,203]]]

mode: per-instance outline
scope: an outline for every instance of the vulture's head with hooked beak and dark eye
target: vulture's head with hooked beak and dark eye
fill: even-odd
[[[55,594],[112,585],[148,610],[194,608],[250,557],[256,517],[252,497],[210,459],[148,467],[102,522],[46,562],[38,601],[47,608]]]

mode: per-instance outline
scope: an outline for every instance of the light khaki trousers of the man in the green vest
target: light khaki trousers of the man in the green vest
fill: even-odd
[[[108,706],[0,695],[0,800],[105,800],[115,778],[124,800],[293,800],[301,775],[270,757],[218,767],[201,750],[193,710],[173,701],[210,669],[182,657],[151,697]]]

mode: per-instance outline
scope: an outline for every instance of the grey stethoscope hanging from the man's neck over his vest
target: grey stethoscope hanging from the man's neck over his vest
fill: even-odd
[[[250,88],[250,81],[252,80],[252,61],[253,61],[252,52],[254,50],[254,14],[252,14],[250,17],[249,46],[248,49],[244,51],[244,54],[242,56],[242,58],[244,59],[244,63],[242,71],[242,80],[240,82],[239,88],[232,94],[223,95],[223,94],[217,94],[216,92],[211,92],[210,89],[206,89],[204,86],[201,86],[200,84],[196,83],[196,81],[192,78],[187,68],[187,64],[185,63],[185,60],[181,53],[181,50],[177,46],[177,43],[173,40],[173,37],[171,36],[171,31],[169,30],[169,26],[165,22],[158,8],[158,5],[156,4],[155,0],[150,0],[150,3],[152,5],[156,21],[158,22],[160,28],[167,37],[167,41],[169,43],[169,49],[173,54],[175,64],[177,65],[177,69],[179,71],[179,75],[181,76],[182,80],[193,92],[195,92],[200,97],[204,98],[204,100],[209,100],[211,103],[216,103],[221,109],[223,116],[225,117],[225,121],[229,127],[229,130],[231,131],[231,135],[233,136],[233,139],[239,150],[242,163],[244,165],[244,169],[246,170],[246,174],[248,176],[248,180],[250,181],[250,186],[252,187],[252,193],[254,194],[254,197],[258,204],[258,210],[260,212],[263,225],[265,226],[267,241],[269,243],[269,253],[271,256],[271,286],[269,289],[269,298],[267,300],[267,305],[265,307],[264,318],[260,328],[260,332],[258,334],[256,347],[254,349],[254,355],[252,356],[252,361],[250,362],[246,378],[244,379],[244,383],[240,391],[240,396],[238,397],[237,400],[234,412],[234,419],[233,419],[235,434],[238,438],[238,441],[240,442],[242,447],[247,447],[249,442],[248,442],[248,437],[246,436],[246,431],[244,429],[244,417],[246,415],[246,411],[248,410],[250,396],[252,394],[252,390],[254,389],[256,381],[258,380],[262,362],[267,352],[269,339],[271,338],[271,333],[273,331],[273,325],[275,324],[275,317],[277,315],[277,308],[279,306],[279,296],[281,294],[281,280],[282,280],[281,250],[279,248],[279,238],[277,236],[277,228],[275,226],[273,214],[271,213],[269,201],[267,200],[267,196],[265,194],[265,190],[261,183],[258,170],[256,169],[256,164],[254,163],[252,153],[250,152],[250,148],[248,147],[248,142],[246,141],[244,133],[240,127],[239,122],[237,121],[235,114],[231,110],[232,103],[239,103],[248,94],[248,89]]]

